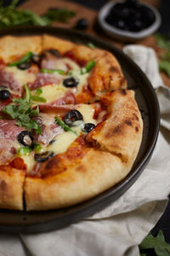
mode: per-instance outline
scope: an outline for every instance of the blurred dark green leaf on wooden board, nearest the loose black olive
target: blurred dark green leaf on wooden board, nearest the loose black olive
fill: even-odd
[[[66,22],[76,14],[75,12],[68,10],[66,8],[62,9],[48,9],[48,12],[43,16],[50,21],[61,21]]]

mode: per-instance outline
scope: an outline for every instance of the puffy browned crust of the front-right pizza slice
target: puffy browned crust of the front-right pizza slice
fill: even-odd
[[[68,160],[64,172],[58,170],[56,159],[53,166],[48,162],[42,169],[42,173],[52,172],[51,177],[26,177],[27,211],[68,207],[86,201],[120,182],[131,170],[143,131],[134,93],[115,90],[101,101],[109,104],[110,116],[88,134],[87,139],[94,143],[94,148],[82,148],[87,154],[80,159],[75,157],[73,165]]]

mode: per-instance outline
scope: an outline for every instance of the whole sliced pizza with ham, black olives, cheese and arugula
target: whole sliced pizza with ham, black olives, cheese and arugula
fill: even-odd
[[[116,57],[61,38],[0,38],[0,208],[87,201],[131,171],[143,122]]]

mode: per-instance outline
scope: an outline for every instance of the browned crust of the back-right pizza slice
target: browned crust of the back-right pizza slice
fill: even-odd
[[[127,88],[122,69],[114,55],[104,49],[91,49],[82,44],[74,44],[69,41],[43,35],[43,49],[58,49],[61,55],[69,51],[79,61],[95,61],[95,67],[89,75],[89,89],[94,96],[101,96],[113,89]]]

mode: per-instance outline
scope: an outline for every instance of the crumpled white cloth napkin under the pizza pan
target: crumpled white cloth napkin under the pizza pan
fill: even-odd
[[[5,256],[138,256],[139,243],[155,226],[170,193],[170,90],[158,73],[153,49],[124,48],[156,88],[161,107],[161,129],[156,149],[139,179],[111,206],[77,224],[43,234],[0,236]]]

